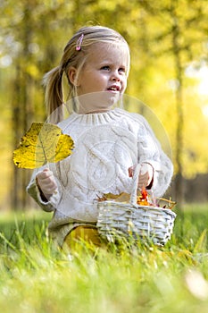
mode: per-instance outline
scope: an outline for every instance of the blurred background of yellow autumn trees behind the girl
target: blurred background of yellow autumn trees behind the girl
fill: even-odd
[[[74,31],[96,24],[129,42],[126,94],[150,107],[168,134],[169,195],[208,203],[207,0],[0,0],[0,12],[0,210],[35,207],[25,191],[32,171],[15,167],[12,151],[32,122],[46,121],[43,75]]]

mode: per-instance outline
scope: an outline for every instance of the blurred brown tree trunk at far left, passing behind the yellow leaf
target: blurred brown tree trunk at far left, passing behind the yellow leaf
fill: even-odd
[[[28,125],[32,116],[31,112],[33,99],[31,97],[32,77],[28,72],[30,63],[29,43],[32,36],[30,4],[25,4],[24,19],[22,21],[23,45],[20,55],[15,60],[16,69],[13,81],[13,103],[12,103],[12,127],[13,127],[13,149],[17,148],[21,137],[28,130]],[[27,207],[26,186],[29,182],[29,171],[13,166],[12,173],[12,208],[25,209]]]

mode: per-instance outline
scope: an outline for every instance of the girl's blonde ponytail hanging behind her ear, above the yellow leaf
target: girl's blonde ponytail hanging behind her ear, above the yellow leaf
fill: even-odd
[[[55,67],[47,72],[43,79],[46,87],[46,109],[49,115],[50,123],[59,123],[62,121],[62,69],[60,66]]]

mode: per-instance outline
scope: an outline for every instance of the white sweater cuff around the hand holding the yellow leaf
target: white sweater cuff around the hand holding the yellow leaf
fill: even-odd
[[[52,212],[54,211],[55,207],[57,207],[61,199],[60,188],[58,186],[58,189],[55,190],[54,194],[50,197],[50,199],[48,199],[47,202],[41,198],[40,190],[37,187],[36,176],[37,173],[43,169],[44,167],[34,170],[26,190],[29,193],[29,196],[37,202],[39,207],[41,207],[46,212]]]

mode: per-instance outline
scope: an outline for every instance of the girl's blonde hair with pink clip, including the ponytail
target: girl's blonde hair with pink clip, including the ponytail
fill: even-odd
[[[79,43],[80,38],[81,42]],[[62,75],[66,75],[70,86],[68,98],[76,97],[76,86],[74,86],[76,83],[71,83],[71,80],[68,77],[69,69],[71,66],[76,68],[78,79],[79,72],[87,61],[87,56],[90,53],[90,47],[99,42],[104,42],[109,45],[121,44],[121,48],[125,49],[127,52],[127,74],[129,74],[129,45],[120,33],[103,26],[88,26],[79,29],[64,48],[62,60],[59,66],[55,67],[50,72],[47,72],[44,76],[44,85],[46,87],[46,107],[48,114],[53,115],[53,112],[59,112],[58,114],[54,114],[55,117],[52,118],[53,123],[58,123],[62,120],[62,109],[56,110],[58,107],[61,108],[64,102]],[[78,48],[78,43],[80,44],[80,49]]]

